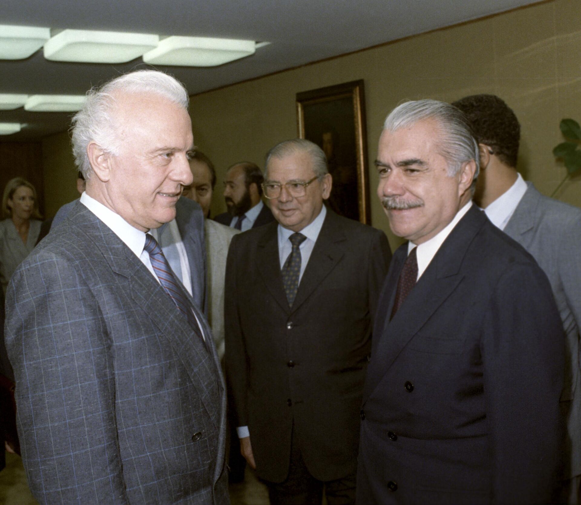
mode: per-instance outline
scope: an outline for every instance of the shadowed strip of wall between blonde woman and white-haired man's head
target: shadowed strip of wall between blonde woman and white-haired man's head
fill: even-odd
[[[77,168],[74,164],[69,134],[65,131],[42,139],[45,213],[54,217],[64,203],[78,198]]]

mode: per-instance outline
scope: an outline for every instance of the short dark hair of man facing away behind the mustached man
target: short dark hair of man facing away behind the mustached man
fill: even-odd
[[[517,167],[521,124],[517,115],[496,95],[465,96],[452,105],[467,117],[476,141],[490,146],[503,163]]]

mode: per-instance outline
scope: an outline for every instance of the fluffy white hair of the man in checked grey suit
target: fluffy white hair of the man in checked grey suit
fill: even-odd
[[[87,155],[89,143],[96,142],[106,152],[119,154],[120,139],[116,134],[112,114],[116,107],[117,92],[153,93],[188,110],[189,97],[184,85],[157,70],[137,70],[116,77],[101,87],[91,88],[87,92],[83,109],[74,115],[70,129],[75,163],[85,180],[91,177],[91,164]]]

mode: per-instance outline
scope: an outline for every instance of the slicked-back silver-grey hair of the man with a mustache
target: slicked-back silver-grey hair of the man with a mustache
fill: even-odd
[[[396,131],[400,128],[413,126],[418,121],[425,119],[433,119],[440,126],[442,132],[440,149],[442,156],[448,161],[449,176],[455,176],[464,163],[474,160],[476,163],[474,181],[472,182],[474,188],[476,177],[480,171],[478,142],[472,134],[468,120],[460,109],[437,100],[404,102],[389,113],[385,123],[383,123],[383,129]]]

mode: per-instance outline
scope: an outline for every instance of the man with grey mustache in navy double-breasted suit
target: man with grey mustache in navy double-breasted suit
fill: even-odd
[[[375,162],[394,254],[361,406],[358,503],[554,503],[564,345],[546,275],[472,204],[460,110],[406,102]]]

